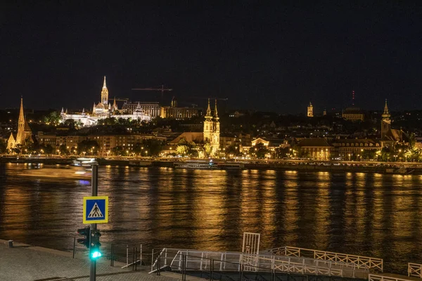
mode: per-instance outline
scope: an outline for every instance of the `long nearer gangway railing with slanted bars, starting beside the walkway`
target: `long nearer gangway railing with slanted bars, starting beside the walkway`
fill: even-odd
[[[153,257],[154,259],[154,257]],[[196,251],[162,249],[155,255],[151,272],[164,268],[171,270],[210,270],[215,272],[279,272],[311,275],[328,275],[366,279],[369,269],[354,263],[324,261],[298,256],[271,256],[239,252]]]

